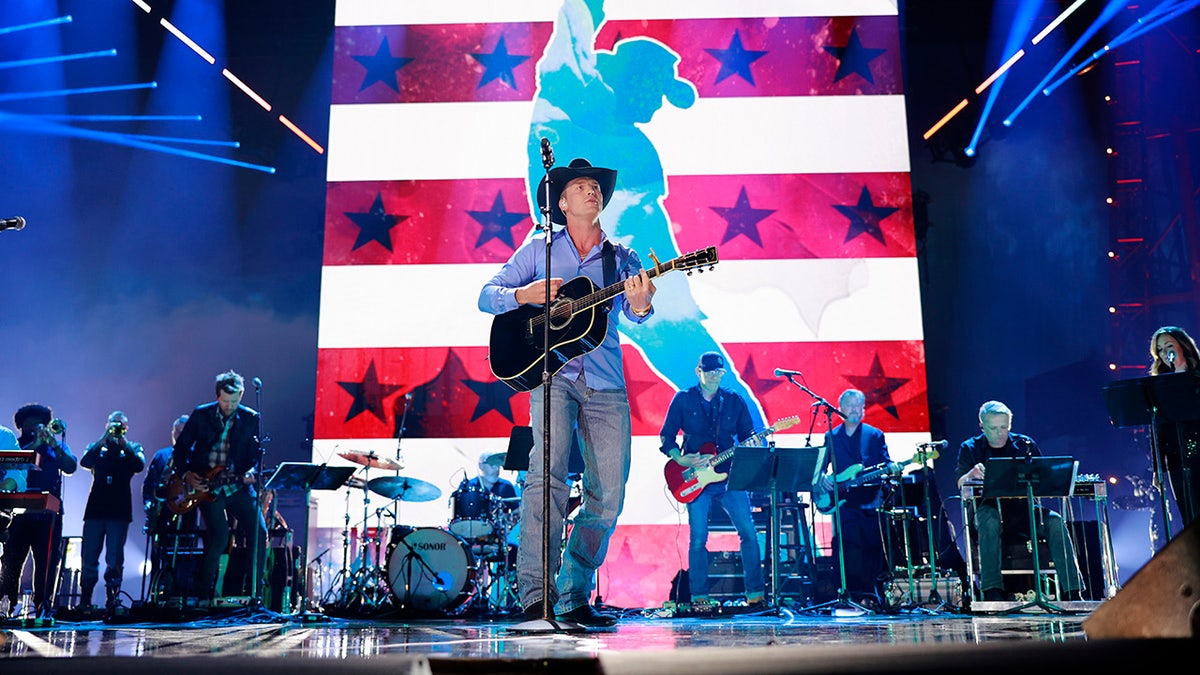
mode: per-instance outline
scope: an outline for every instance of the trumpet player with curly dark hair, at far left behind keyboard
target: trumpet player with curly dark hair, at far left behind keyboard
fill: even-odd
[[[34,604],[40,617],[54,615],[54,587],[59,578],[59,542],[62,538],[62,474],[74,473],[78,462],[66,443],[66,424],[41,404],[22,406],[13,414],[20,429],[22,449],[37,452],[37,468],[19,472],[18,488],[48,492],[59,502],[49,510],[26,510],[14,515],[8,542],[0,558],[0,607],[16,608],[18,584],[25,560],[34,557]],[[10,476],[13,472],[10,472]],[[31,608],[30,608],[31,609]]]

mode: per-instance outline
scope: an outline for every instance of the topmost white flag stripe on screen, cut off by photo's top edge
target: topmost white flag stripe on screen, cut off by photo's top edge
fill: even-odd
[[[413,25],[552,20],[562,0],[337,0],[336,25]],[[740,17],[896,16],[896,0],[608,0],[608,20]]]

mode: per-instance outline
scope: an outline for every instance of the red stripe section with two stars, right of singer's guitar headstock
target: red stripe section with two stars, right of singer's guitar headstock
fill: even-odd
[[[907,173],[676,175],[668,185],[680,250],[716,241],[722,259],[917,255]]]

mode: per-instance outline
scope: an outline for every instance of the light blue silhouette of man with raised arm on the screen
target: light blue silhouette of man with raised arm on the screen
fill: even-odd
[[[538,61],[528,147],[532,213],[540,221],[533,190],[544,177],[540,141],[547,138],[554,157],[564,163],[587,157],[593,166],[617,169],[617,189],[602,219],[605,229],[650,265],[652,250],[660,261],[680,251],[662,205],[667,195],[662,162],[637,125],[650,121],[664,98],[677,108],[691,107],[696,88],[678,77],[679,55],[656,40],[634,37],[617,42],[612,52],[596,52],[602,5],[602,0],[565,0]],[[622,323],[620,330],[658,372],[683,389],[695,383],[698,354],[725,354],[725,350],[704,328],[704,313],[692,299],[686,275],[667,274],[654,283],[655,316],[641,325]],[[763,426],[762,405],[737,372],[730,375],[726,386],[750,404],[755,426]]]

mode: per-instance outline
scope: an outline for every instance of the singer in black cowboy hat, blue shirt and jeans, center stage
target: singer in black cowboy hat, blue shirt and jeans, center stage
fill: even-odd
[[[584,159],[550,171],[548,205],[551,221],[565,227],[550,235],[551,274],[546,274],[545,233],[527,239],[504,267],[490,279],[479,294],[479,309],[499,315],[524,304],[542,304],[546,287],[556,298],[563,279],[586,275],[604,288],[620,281],[624,293],[614,298],[607,312],[607,331],[593,351],[568,362],[551,386],[550,491],[551,512],[542,512],[542,448],[545,389],[534,388],[529,396],[534,447],[529,473],[521,496],[521,539],[517,549],[517,587],[524,616],[541,619],[542,603],[554,608],[551,615],[584,626],[611,626],[617,617],[596,611],[590,604],[596,569],[608,551],[608,538],[625,502],[629,478],[632,426],[629,396],[622,370],[617,324],[641,323],[653,313],[654,283],[642,269],[631,249],[610,240],[600,227],[600,213],[612,198],[617,172],[593,167]],[[545,208],[546,180],[538,189]],[[606,268],[607,273],[606,274]],[[607,277],[611,277],[608,280]],[[619,310],[619,311],[618,311]],[[562,568],[557,552],[562,549],[563,519],[568,500],[568,455],[576,428],[583,450],[583,503],[571,528],[563,554]],[[551,569],[542,569],[542,522],[550,518]],[[550,598],[544,598],[542,574],[554,574]],[[557,597],[554,596],[557,592]],[[548,609],[548,608],[547,608]],[[550,613],[546,613],[550,614]]]

